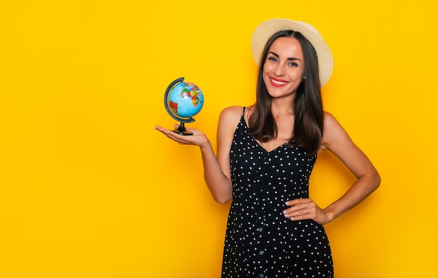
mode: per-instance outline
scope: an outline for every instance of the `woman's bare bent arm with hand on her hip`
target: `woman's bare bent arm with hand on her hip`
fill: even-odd
[[[356,176],[357,180],[347,192],[325,209],[318,207],[311,199],[297,199],[286,204],[291,208],[283,211],[292,220],[313,219],[326,224],[353,209],[365,200],[380,185],[380,176],[372,162],[330,113],[325,113],[323,141],[320,150],[329,150],[336,155]]]

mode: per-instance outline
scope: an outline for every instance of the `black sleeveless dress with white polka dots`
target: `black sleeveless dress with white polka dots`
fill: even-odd
[[[279,146],[267,152],[241,117],[230,151],[232,204],[222,278],[333,277],[330,244],[322,225],[291,221],[285,202],[309,197],[316,155]]]

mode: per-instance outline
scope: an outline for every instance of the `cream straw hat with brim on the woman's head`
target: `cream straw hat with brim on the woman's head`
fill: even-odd
[[[284,18],[274,18],[262,22],[254,31],[253,34],[253,55],[257,65],[260,64],[262,52],[269,38],[278,31],[293,30],[300,32],[312,44],[318,55],[319,79],[321,87],[327,83],[332,74],[333,57],[327,44],[323,41],[323,37],[318,30],[309,25],[309,23],[301,21],[287,20]]]

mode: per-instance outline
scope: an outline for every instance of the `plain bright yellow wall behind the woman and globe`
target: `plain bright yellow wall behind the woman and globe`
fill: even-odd
[[[435,4],[434,4],[435,3]],[[325,109],[382,176],[326,225],[338,278],[436,277],[436,1],[0,2],[0,277],[219,277],[229,204],[163,95],[199,85],[216,147],[225,106],[254,101],[255,27],[311,22],[334,56]],[[318,158],[325,206],[353,176]]]

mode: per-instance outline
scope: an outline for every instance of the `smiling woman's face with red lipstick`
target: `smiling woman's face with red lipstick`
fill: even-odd
[[[304,78],[304,56],[294,37],[280,37],[269,48],[263,65],[263,80],[271,97],[297,92]]]

